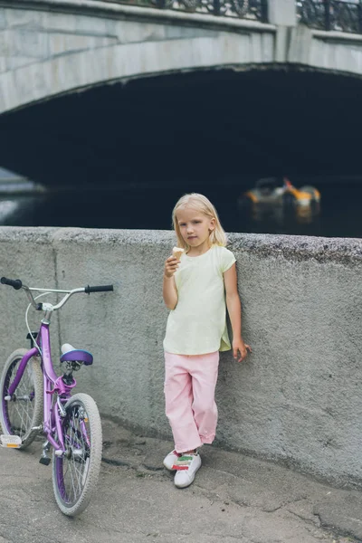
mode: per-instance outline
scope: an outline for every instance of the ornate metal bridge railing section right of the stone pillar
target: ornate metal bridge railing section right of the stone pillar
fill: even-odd
[[[297,12],[311,28],[362,33],[361,0],[297,0]]]

